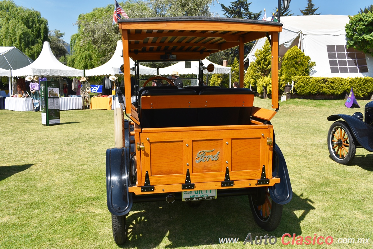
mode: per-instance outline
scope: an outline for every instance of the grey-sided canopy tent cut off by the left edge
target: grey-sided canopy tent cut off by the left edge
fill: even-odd
[[[34,62],[26,54],[22,53],[16,47],[0,47],[0,69],[6,70],[6,72],[0,72],[1,76],[9,77],[9,96],[12,92],[12,84],[10,79],[10,70],[19,69],[25,67]]]

